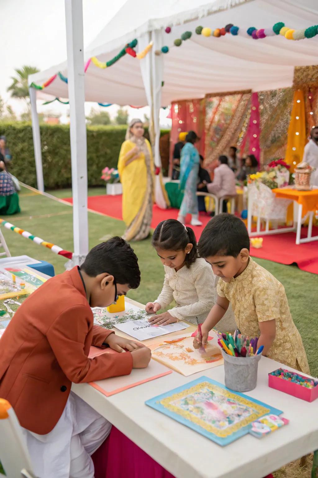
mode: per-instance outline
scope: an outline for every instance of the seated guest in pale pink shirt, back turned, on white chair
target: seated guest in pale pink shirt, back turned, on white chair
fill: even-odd
[[[227,164],[226,156],[219,156],[218,167],[214,170],[213,183],[206,185],[209,193],[220,198],[223,196],[235,196],[235,174]],[[227,211],[226,201],[223,201],[223,212]]]

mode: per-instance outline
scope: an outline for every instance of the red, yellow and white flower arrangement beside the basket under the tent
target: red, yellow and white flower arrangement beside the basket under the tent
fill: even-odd
[[[267,165],[266,171],[250,174],[248,183],[263,183],[270,189],[285,187],[289,184],[289,167],[283,159],[274,159]]]

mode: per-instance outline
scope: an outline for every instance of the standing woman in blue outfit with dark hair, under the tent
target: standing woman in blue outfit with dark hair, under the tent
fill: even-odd
[[[181,150],[180,189],[184,192],[184,198],[180,206],[178,221],[185,224],[185,216],[191,214],[191,226],[202,226],[202,222],[199,221],[196,197],[200,165],[199,152],[195,148],[195,142],[198,139],[195,131],[189,131],[185,137],[185,146]]]

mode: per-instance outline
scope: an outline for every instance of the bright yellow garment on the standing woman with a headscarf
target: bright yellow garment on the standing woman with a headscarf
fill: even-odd
[[[150,171],[154,182],[154,161],[149,141],[145,140],[150,155]],[[136,146],[133,141],[124,141],[119,153],[118,173],[123,185],[123,221],[126,226],[130,226],[133,219],[137,216],[144,203],[144,196],[147,191],[147,166],[145,163],[144,153],[141,152],[139,157],[125,165],[126,154]],[[129,158],[128,158],[129,159]],[[153,190],[153,187],[152,187]],[[153,194],[153,193],[152,193]],[[153,194],[154,200],[154,194]]]

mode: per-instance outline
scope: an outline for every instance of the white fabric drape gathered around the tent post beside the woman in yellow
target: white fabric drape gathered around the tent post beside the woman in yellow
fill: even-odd
[[[164,76],[163,55],[156,55],[154,52],[163,46],[163,30],[155,30],[152,33],[145,33],[138,41],[139,51],[152,41],[152,51],[140,60],[141,74],[144,82],[144,90],[150,107],[149,135],[153,148],[154,164],[160,168],[160,173],[155,175],[155,202],[157,206],[165,209],[168,204],[164,195],[164,185],[161,173],[161,158],[159,150],[160,124],[159,112],[161,105],[161,87]]]

